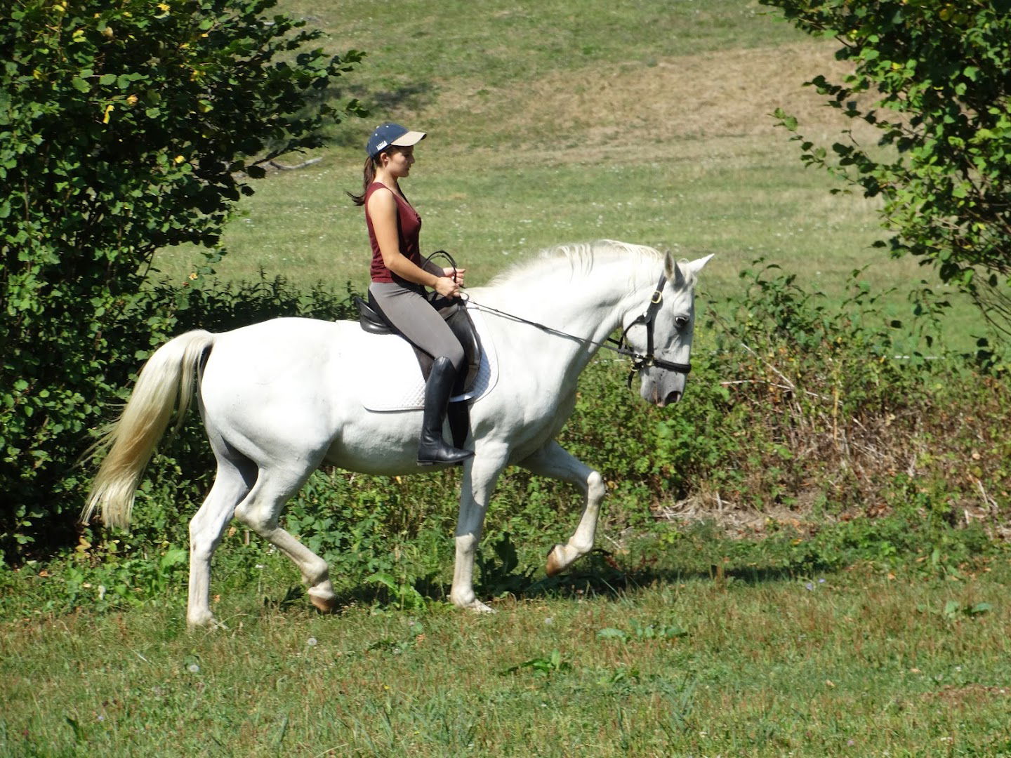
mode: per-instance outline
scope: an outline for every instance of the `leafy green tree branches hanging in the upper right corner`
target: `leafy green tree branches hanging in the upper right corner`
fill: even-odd
[[[761,3],[841,43],[836,58],[853,73],[808,84],[880,133],[877,146],[862,146],[844,131],[831,160],[798,135],[803,160],[884,198],[896,233],[882,246],[1000,306],[993,297],[1011,281],[1011,0]],[[776,115],[797,130],[795,118]],[[1007,322],[1006,300],[1003,307]]]

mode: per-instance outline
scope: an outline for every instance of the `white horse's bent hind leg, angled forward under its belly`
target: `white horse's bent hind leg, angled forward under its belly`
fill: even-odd
[[[236,518],[284,553],[298,567],[308,585],[309,600],[320,610],[332,611],[337,594],[327,562],[277,526],[284,503],[295,494],[315,465],[305,468],[262,468],[256,486],[236,508]]]

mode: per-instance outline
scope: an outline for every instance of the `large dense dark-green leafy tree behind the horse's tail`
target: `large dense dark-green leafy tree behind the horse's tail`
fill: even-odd
[[[8,555],[72,520],[57,516],[78,509],[73,463],[96,408],[172,326],[171,313],[137,307],[155,251],[196,244],[212,263],[253,191],[245,178],[360,112],[329,101],[362,54],[313,46],[320,32],[265,15],[275,3],[0,0]]]

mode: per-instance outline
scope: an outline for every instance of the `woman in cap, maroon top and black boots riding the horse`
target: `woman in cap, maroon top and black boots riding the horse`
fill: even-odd
[[[410,131],[397,123],[377,126],[365,148],[368,159],[362,194],[351,197],[356,205],[365,206],[372,246],[369,292],[373,300],[403,337],[435,359],[425,385],[418,446],[419,465],[431,466],[460,463],[474,454],[447,445],[443,439],[443,420],[464,355],[459,340],[426,299],[424,289],[431,287],[444,297],[457,297],[465,270],[443,269],[422,261],[422,217],[399,185],[415,163],[413,146],[424,138],[424,131]]]

